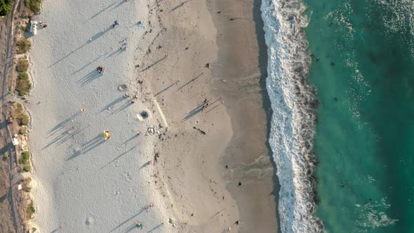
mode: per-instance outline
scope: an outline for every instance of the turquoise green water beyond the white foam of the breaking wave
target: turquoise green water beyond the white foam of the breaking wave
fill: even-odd
[[[412,1],[305,0],[326,232],[414,232]]]

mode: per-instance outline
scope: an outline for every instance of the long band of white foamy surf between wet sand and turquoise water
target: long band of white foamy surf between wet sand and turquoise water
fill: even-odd
[[[308,24],[305,6],[301,0],[272,0],[263,1],[261,10],[269,55],[267,88],[274,112],[269,143],[281,183],[280,227],[282,232],[321,232],[323,224],[313,215],[317,101],[306,81],[311,60],[303,30]]]

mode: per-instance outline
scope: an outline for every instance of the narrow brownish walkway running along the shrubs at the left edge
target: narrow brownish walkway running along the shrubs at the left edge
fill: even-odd
[[[13,72],[13,18],[16,11],[20,11],[22,0],[16,0],[13,4],[13,11],[8,15],[6,20],[6,58],[4,60],[4,76],[2,77],[1,85],[1,134],[6,138],[6,144],[8,147],[8,152],[10,154],[10,164],[9,164],[9,173],[10,173],[10,203],[13,224],[15,231],[17,233],[22,233],[22,218],[18,211],[18,204],[21,201],[22,197],[18,193],[18,182],[20,181],[21,175],[18,173],[18,164],[17,164],[17,154],[13,146],[11,146],[11,133],[8,130],[6,122],[6,105],[8,100],[11,98],[11,95],[8,94],[8,88],[11,84],[10,80],[12,76],[8,75],[8,72]],[[8,82],[9,81],[9,82]]]

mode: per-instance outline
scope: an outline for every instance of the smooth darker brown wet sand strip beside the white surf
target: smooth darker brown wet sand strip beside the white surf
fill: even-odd
[[[221,166],[226,187],[239,206],[239,232],[279,230],[279,181],[267,142],[272,109],[265,86],[267,47],[260,4],[260,0],[208,4],[218,29],[213,77],[221,83],[215,92],[228,103],[234,131]]]

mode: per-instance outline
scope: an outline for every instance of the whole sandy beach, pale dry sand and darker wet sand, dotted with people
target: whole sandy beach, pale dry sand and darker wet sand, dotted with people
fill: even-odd
[[[40,232],[277,231],[260,2],[235,2],[44,1],[28,105]]]

